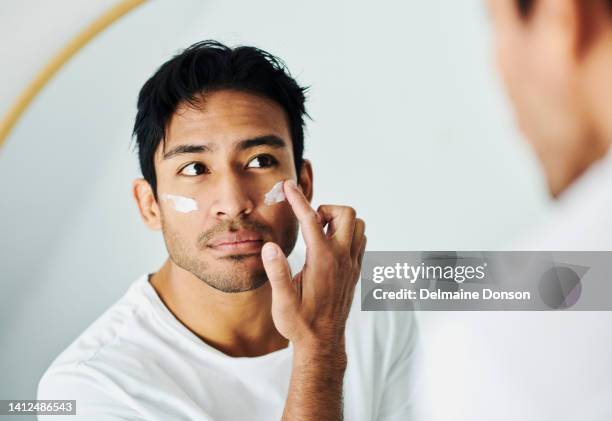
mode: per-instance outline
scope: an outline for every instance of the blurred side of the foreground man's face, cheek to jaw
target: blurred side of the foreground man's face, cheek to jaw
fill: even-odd
[[[575,28],[565,0],[534,0],[521,16],[517,0],[489,0],[497,65],[518,125],[540,158],[553,194],[561,168],[581,163],[592,127],[585,107]],[[565,21],[564,21],[565,19]],[[566,175],[569,177],[571,174]]]

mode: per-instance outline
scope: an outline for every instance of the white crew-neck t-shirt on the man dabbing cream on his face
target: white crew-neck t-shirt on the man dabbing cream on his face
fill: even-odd
[[[411,420],[414,315],[362,312],[358,297],[359,288],[346,328],[345,420]],[[38,399],[75,399],[77,416],[65,417],[72,421],[280,420],[292,352],[291,344],[252,358],[218,351],[143,275],[52,363]]]

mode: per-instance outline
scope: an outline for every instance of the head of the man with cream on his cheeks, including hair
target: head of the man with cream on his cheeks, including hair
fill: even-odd
[[[257,288],[267,279],[261,246],[274,241],[289,254],[295,245],[289,205],[267,205],[264,195],[289,178],[312,195],[304,90],[262,50],[205,41],[164,63],[140,91],[141,213],[162,230],[172,262],[216,289]]]

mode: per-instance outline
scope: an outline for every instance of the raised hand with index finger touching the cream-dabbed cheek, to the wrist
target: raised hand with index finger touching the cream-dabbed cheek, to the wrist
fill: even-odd
[[[281,248],[264,244],[262,260],[272,286],[274,324],[296,349],[343,347],[366,247],[365,223],[348,206],[322,205],[315,212],[294,181],[285,181],[283,187],[304,236],[306,262],[291,279]]]

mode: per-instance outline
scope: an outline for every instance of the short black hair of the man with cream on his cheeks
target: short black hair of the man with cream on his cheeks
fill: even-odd
[[[288,117],[295,168],[304,151],[306,88],[291,77],[285,64],[255,47],[230,48],[217,41],[195,43],[164,63],[138,95],[136,136],[142,175],[157,199],[154,155],[165,139],[170,118],[182,103],[197,105],[200,94],[236,89],[276,101]]]

